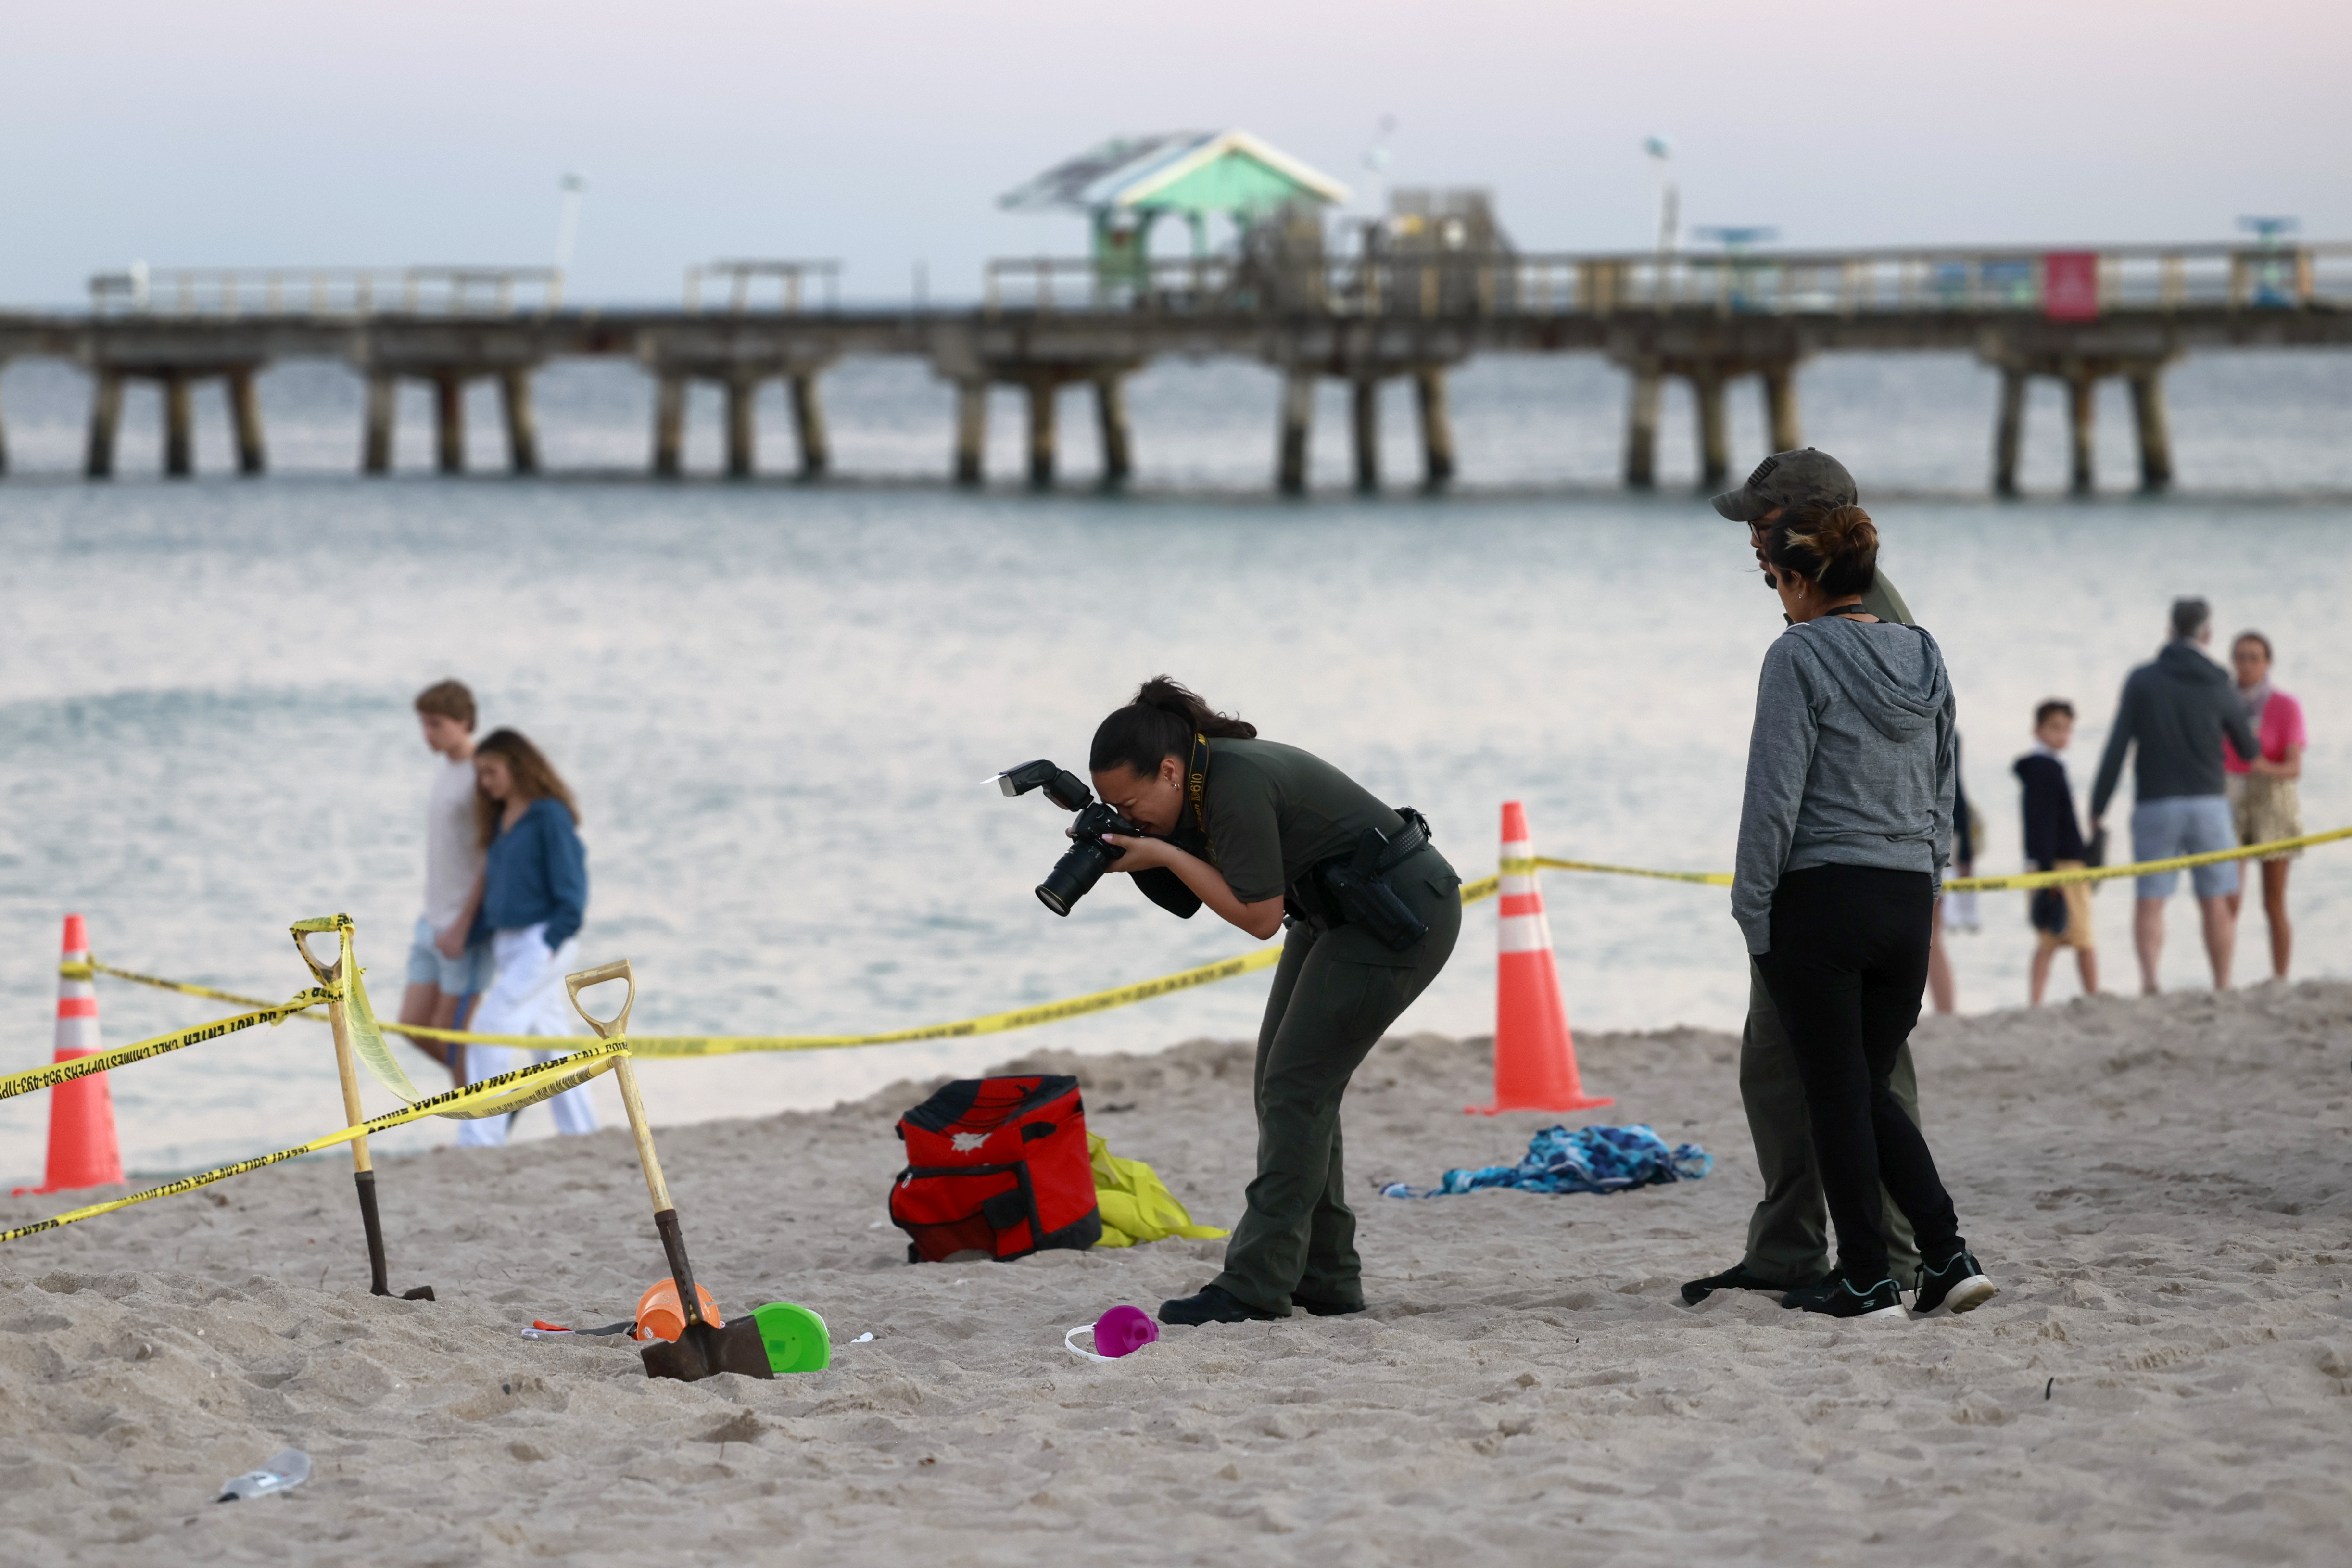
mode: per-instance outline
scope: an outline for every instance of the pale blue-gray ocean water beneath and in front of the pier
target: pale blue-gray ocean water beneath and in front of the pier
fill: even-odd
[[[1693,498],[1672,425],[1668,456],[1684,465],[1658,496],[1606,487],[1613,376],[1573,362],[1461,376],[1463,487],[1449,498],[1402,487],[1402,402],[1399,489],[1343,494],[1345,425],[1327,407],[1327,489],[1308,503],[1263,494],[1272,395],[1256,371],[1141,378],[1141,487],[1117,498],[1084,487],[1077,404],[1063,491],[957,494],[936,484],[943,388],[903,367],[847,367],[828,388],[847,477],[814,489],[630,477],[647,400],[621,367],[548,374],[557,477],[541,482],[360,482],[346,473],[348,378],[289,367],[266,381],[273,477],[148,477],[151,411],[134,400],[127,477],[92,487],[71,477],[82,383],[12,367],[0,1067],[49,1058],[68,910],[108,961],[270,997],[306,983],[287,924],[348,910],[390,1013],[435,766],[409,698],[445,675],[579,790],[583,959],[635,959],[647,1032],[891,1030],[1247,950],[1117,879],[1070,919],[1047,914],[1030,886],[1065,818],[983,783],[1030,757],[1080,764],[1094,722],[1162,670],[1421,806],[1465,875],[1491,870],[1505,799],[1526,802],[1548,853],[1729,867],[1755,670],[1780,623],[1743,531]],[[1964,362],[1830,362],[1804,390],[1809,435],[1863,475],[1886,571],[1952,663],[1966,785],[1990,827],[1980,870],[2018,865],[2009,759],[2032,705],[2079,703],[2072,771],[2089,792],[2114,691],[2180,592],[2209,595],[2223,635],[2272,635],[2277,682],[2312,724],[2305,820],[2352,823],[2343,360],[2192,360],[2173,386],[2183,494],[2164,501],[1985,501],[1990,381]],[[412,411],[414,468],[428,451]],[[492,461],[494,409],[477,414],[477,461]],[[767,463],[788,465],[788,425],[767,414]],[[1750,463],[1762,433],[1740,414],[1736,458]],[[2122,487],[2129,447],[2107,414],[2103,475]],[[715,421],[696,416],[689,456],[708,473]],[[1000,404],[1007,475],[1011,416]],[[2037,404],[2030,442],[2027,480],[2049,491],[2053,404]],[[212,423],[200,463],[226,468]],[[1578,1027],[1736,1025],[1745,964],[1722,889],[1555,872],[1545,891]],[[2352,846],[2298,863],[2293,900],[2298,973],[2347,973]],[[2110,990],[2133,985],[2129,905],[2124,889],[2096,900]],[[1402,1027],[1491,1027],[1491,907],[1470,917]],[[2204,985],[2185,896],[2171,926],[2166,983]],[[2023,896],[1987,896],[1985,931],[1955,938],[1962,1006],[2023,1001],[2030,950]],[[2260,922],[2239,954],[2241,978],[2267,971]],[[2060,973],[2053,994],[2072,987]],[[1251,976],[1028,1034],[649,1063],[642,1079],[668,1124],[823,1105],[1033,1044],[1251,1034],[1263,992]],[[221,1011],[101,983],[108,1044]],[[327,1032],[301,1020],[111,1081],[139,1171],[341,1124]],[[369,1091],[369,1107],[388,1103]],[[529,1112],[522,1133],[543,1131],[546,1112]],[[42,1138],[40,1095],[0,1103],[0,1175],[35,1175]],[[440,1140],[421,1124],[379,1143]]]

